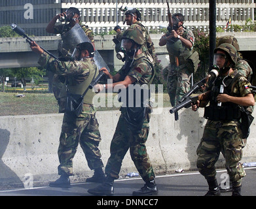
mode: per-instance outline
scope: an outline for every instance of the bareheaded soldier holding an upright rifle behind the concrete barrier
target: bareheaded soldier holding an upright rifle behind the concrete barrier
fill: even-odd
[[[167,31],[159,40],[159,46],[166,45],[170,57],[167,88],[172,106],[177,105],[181,97],[189,91],[191,74],[196,71],[187,65],[187,58],[193,53],[194,35],[191,30],[183,27],[183,14],[177,13],[173,15],[174,17],[179,23],[172,33]]]

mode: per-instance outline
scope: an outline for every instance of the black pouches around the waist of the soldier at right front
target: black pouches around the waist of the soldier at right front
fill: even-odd
[[[240,120],[240,106],[206,106],[204,108],[204,118],[213,121]]]

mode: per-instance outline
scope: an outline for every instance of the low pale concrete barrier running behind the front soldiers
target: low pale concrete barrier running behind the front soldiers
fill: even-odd
[[[157,173],[174,172],[177,169],[196,169],[196,148],[202,137],[206,120],[203,109],[192,112],[179,111],[179,120],[169,113],[170,108],[152,115],[147,152]],[[104,165],[109,157],[109,146],[119,119],[119,111],[98,111],[102,142],[100,150]],[[256,117],[256,114],[253,113]],[[58,142],[63,114],[0,117],[0,185],[20,184],[26,186],[48,184],[58,178]],[[256,161],[255,121],[244,148],[242,162]],[[221,156],[219,167],[224,167]],[[88,168],[82,149],[78,148],[73,159],[75,175],[71,182],[83,181],[93,172]],[[121,175],[137,172],[130,153],[122,163]]]

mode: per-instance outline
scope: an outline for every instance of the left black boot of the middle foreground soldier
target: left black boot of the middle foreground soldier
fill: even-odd
[[[88,193],[92,195],[114,195],[114,178],[107,176],[105,182],[98,187],[88,189]]]

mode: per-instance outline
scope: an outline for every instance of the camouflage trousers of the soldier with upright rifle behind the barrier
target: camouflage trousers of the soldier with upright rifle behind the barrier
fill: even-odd
[[[185,64],[176,67],[174,64],[168,65],[167,89],[172,106],[189,91],[191,83],[191,71],[185,67]]]

